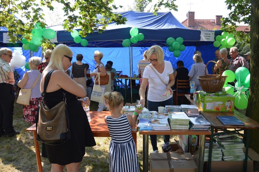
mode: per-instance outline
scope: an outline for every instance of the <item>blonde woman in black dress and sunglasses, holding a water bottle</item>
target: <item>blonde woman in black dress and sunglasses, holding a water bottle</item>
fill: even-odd
[[[59,44],[51,53],[50,63],[43,71],[40,90],[43,92],[44,82],[47,74],[51,74],[49,84],[43,101],[48,108],[63,101],[64,94],[67,99],[67,110],[69,115],[71,138],[59,146],[51,146],[42,143],[42,157],[48,158],[51,163],[51,171],[63,172],[64,166],[67,171],[79,171],[80,163],[85,155],[86,146],[95,146],[95,139],[92,134],[88,119],[82,104],[90,105],[85,88],[77,84],[64,71],[70,67],[73,53],[71,49]],[[76,97],[84,97],[77,99]]]

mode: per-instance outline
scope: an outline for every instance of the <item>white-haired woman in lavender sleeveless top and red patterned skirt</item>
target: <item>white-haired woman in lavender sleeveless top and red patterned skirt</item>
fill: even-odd
[[[22,77],[22,79],[18,82],[18,86],[20,88],[31,88],[34,82],[37,80],[38,75],[40,77],[33,87],[31,91],[31,98],[29,105],[23,105],[23,119],[30,124],[34,124],[36,122],[36,114],[38,110],[38,106],[42,100],[40,94],[40,80],[42,74],[38,71],[38,67],[40,64],[41,58],[40,57],[31,57],[29,59],[29,71],[26,71]]]

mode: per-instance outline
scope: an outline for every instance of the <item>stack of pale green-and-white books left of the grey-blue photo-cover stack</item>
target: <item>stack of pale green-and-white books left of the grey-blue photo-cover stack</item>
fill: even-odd
[[[185,112],[169,112],[171,129],[189,129],[189,117]]]

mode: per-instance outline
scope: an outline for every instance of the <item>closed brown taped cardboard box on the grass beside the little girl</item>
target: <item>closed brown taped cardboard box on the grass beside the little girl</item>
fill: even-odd
[[[191,153],[150,153],[150,172],[197,172]]]

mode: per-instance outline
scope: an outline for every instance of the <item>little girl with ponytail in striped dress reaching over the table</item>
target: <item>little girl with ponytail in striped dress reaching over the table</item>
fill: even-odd
[[[123,97],[116,91],[105,93],[104,101],[111,112],[110,116],[104,117],[112,138],[109,148],[110,172],[139,172],[136,146],[131,134],[131,128],[135,123],[137,114],[142,109],[136,108],[133,116],[121,114]]]

